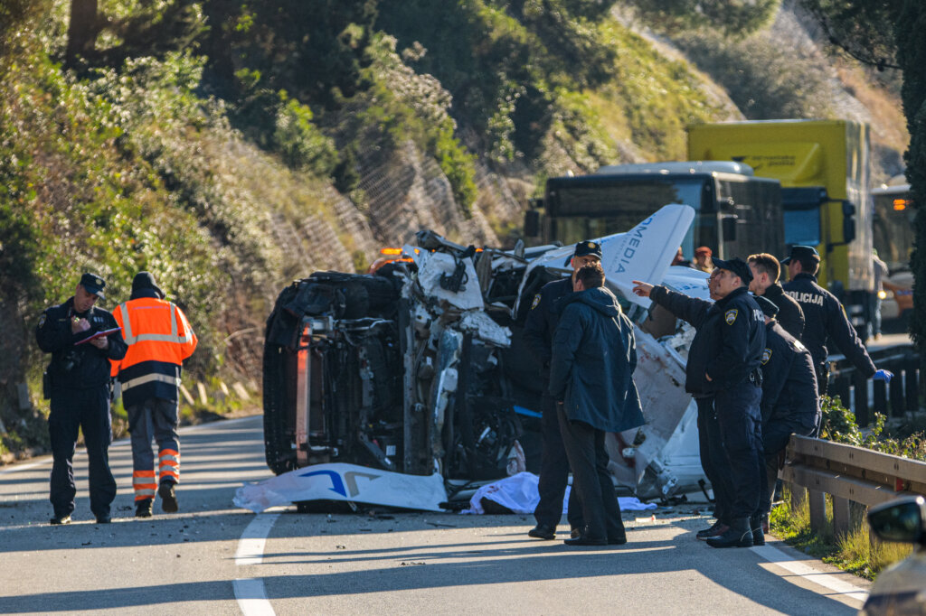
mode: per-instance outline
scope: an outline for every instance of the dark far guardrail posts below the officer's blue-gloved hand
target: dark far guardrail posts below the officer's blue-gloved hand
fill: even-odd
[[[848,408],[853,404],[856,423],[869,425],[872,413],[888,417],[902,417],[904,413],[920,411],[920,355],[911,344],[885,347],[869,351],[871,361],[879,368],[894,373],[890,385],[883,381],[871,383],[846,359],[831,363],[831,396],[839,396]]]

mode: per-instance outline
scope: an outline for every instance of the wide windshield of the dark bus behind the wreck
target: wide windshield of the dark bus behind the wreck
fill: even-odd
[[[550,218],[549,234],[552,236],[547,240],[569,244],[623,233],[652,216],[663,205],[685,203],[694,207],[696,213],[694,224],[682,240],[682,253],[690,259],[696,247],[717,245],[715,213],[703,212],[712,209],[710,205],[702,207],[705,191],[710,191],[709,186],[703,178],[583,176],[550,179],[544,199]],[[710,199],[713,199],[712,194]]]

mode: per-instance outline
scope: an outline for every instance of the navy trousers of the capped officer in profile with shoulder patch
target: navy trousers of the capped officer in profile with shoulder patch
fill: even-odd
[[[748,380],[717,392],[714,399],[726,466],[730,470],[732,492],[727,514],[731,520],[748,518],[759,512],[759,494],[765,474],[760,400],[762,388]]]

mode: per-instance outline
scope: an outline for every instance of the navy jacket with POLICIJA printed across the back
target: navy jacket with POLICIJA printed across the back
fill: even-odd
[[[827,336],[831,337],[840,351],[858,370],[868,378],[874,376],[876,368],[871,363],[868,351],[856,334],[855,328],[845,317],[843,306],[828,290],[817,284],[817,277],[806,272],[784,285],[785,292],[801,304],[804,311],[804,334],[801,342],[810,351],[815,364],[826,363],[829,351]]]

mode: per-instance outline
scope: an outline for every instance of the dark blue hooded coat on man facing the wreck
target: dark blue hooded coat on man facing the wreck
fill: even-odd
[[[557,302],[550,396],[566,416],[598,430],[621,432],[644,425],[633,370],[636,340],[630,320],[611,291],[597,287]]]

